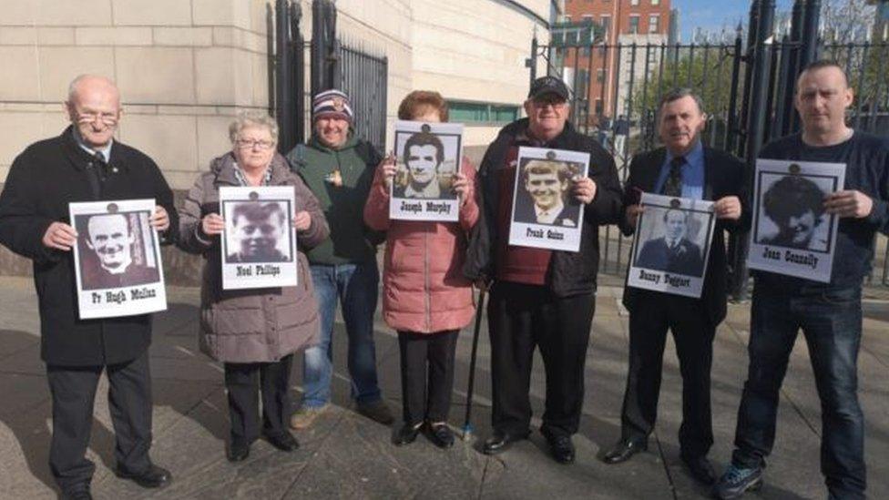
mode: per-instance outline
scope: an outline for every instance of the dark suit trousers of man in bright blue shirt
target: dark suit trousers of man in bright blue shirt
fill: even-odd
[[[654,429],[667,330],[673,332],[682,375],[682,456],[706,455],[713,444],[710,366],[716,326],[699,300],[640,291],[640,310],[629,315],[629,371],[621,410],[621,437],[642,441]]]

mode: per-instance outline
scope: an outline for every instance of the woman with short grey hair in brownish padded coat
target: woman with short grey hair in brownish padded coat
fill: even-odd
[[[223,362],[231,423],[228,458],[240,462],[262,434],[278,449],[299,446],[287,430],[287,392],[293,352],[317,342],[318,306],[301,250],[330,230],[318,200],[275,152],[278,127],[271,117],[247,113],[229,128],[232,150],[210,162],[180,210],[179,246],[204,256],[200,293],[200,349]],[[220,214],[222,186],[292,186],[296,192],[298,281],[295,287],[222,290]],[[262,393],[260,429],[259,393]]]

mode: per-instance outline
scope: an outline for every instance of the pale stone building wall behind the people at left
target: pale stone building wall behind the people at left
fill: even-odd
[[[312,2],[299,4],[301,32],[309,39]],[[273,108],[274,0],[15,0],[3,6],[0,187],[28,144],[66,128],[62,103],[80,74],[118,83],[125,113],[118,139],[154,158],[180,195],[211,158],[231,148],[232,117]],[[434,89],[451,101],[452,121],[466,124],[465,153],[476,159],[498,128],[521,116],[531,39],[535,33],[548,38],[551,20],[562,12],[562,0],[338,0],[336,6],[343,43],[388,59],[388,142],[402,98],[416,88]],[[306,57],[306,72],[309,63]],[[0,273],[28,268],[0,249]]]

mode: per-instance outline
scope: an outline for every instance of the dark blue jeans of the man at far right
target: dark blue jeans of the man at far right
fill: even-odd
[[[750,368],[735,433],[732,462],[764,464],[775,439],[778,397],[787,362],[802,329],[821,399],[821,470],[832,496],[863,498],[864,419],[858,405],[861,288],[821,288],[795,293],[753,290]]]

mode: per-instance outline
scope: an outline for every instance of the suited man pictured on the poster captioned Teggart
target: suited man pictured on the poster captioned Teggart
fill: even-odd
[[[668,209],[664,212],[663,220],[664,236],[642,245],[636,267],[700,276],[704,267],[700,247],[686,238],[689,213]]]

